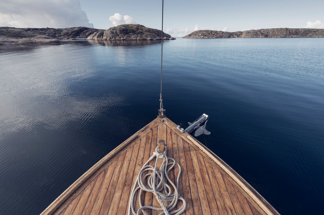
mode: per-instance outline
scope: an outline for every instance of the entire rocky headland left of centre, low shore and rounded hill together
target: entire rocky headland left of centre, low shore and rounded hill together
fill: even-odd
[[[0,45],[7,44],[61,44],[65,40],[161,40],[161,30],[138,24],[125,24],[108,30],[88,27],[69,28],[15,28],[0,27]],[[175,39],[163,33],[164,40]]]

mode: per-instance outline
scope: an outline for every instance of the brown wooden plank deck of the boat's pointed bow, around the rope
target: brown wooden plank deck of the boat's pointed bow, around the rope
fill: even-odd
[[[224,161],[164,119],[156,118],[102,158],[42,214],[127,214],[134,181],[158,140],[165,140],[168,157],[182,168],[179,193],[187,202],[185,214],[278,214]],[[159,206],[152,193],[143,199],[145,205]]]

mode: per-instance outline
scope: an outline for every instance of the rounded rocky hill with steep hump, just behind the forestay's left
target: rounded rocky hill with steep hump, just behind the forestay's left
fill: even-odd
[[[138,24],[124,24],[111,27],[108,30],[99,30],[87,39],[93,40],[160,40],[161,30],[145,27]],[[163,39],[175,39],[163,32]]]

